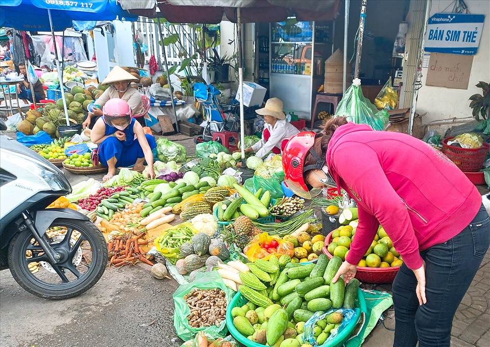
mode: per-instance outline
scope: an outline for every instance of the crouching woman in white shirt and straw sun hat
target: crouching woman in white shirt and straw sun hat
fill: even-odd
[[[300,132],[286,120],[281,99],[268,99],[265,107],[255,112],[264,116],[265,127],[262,132],[262,139],[247,148],[245,153],[254,152],[255,156],[261,158],[271,151],[275,154],[281,154],[287,141]]]

